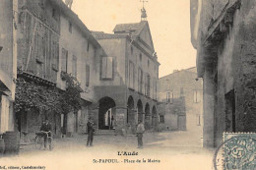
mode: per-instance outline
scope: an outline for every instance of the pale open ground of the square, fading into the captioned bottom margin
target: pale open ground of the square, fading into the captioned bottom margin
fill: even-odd
[[[135,136],[95,136],[93,147],[86,147],[87,136],[55,140],[54,149],[38,150],[34,145],[21,149],[19,156],[0,159],[1,166],[45,166],[45,169],[212,169],[214,150],[192,145],[187,132],[147,133],[144,148],[137,148]],[[190,142],[189,142],[190,141]],[[138,155],[118,155],[118,151]],[[94,163],[94,159],[97,163]],[[117,159],[118,163],[109,163]],[[127,159],[127,160],[125,160]],[[138,163],[137,160],[147,163]],[[152,162],[148,162],[152,159]],[[99,163],[100,162],[100,163]],[[136,164],[136,166],[135,166]]]

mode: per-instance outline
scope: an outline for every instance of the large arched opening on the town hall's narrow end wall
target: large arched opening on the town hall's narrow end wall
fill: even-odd
[[[98,129],[112,130],[115,128],[115,102],[110,97],[103,97],[99,101]]]

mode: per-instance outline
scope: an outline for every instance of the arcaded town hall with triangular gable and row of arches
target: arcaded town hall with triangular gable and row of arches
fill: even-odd
[[[114,33],[94,31],[107,57],[100,61],[94,113],[99,130],[128,129],[138,120],[146,129],[158,125],[159,66],[149,23],[121,24]]]

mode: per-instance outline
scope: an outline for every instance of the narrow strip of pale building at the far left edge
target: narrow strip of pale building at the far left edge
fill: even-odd
[[[0,134],[14,131],[15,80],[17,78],[18,0],[0,5]]]

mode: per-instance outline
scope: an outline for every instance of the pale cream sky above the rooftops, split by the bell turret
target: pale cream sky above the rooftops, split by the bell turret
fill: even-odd
[[[72,10],[90,30],[112,33],[117,24],[139,23],[140,0],[73,0]],[[148,0],[145,3],[160,77],[196,66],[190,41],[189,0]]]

